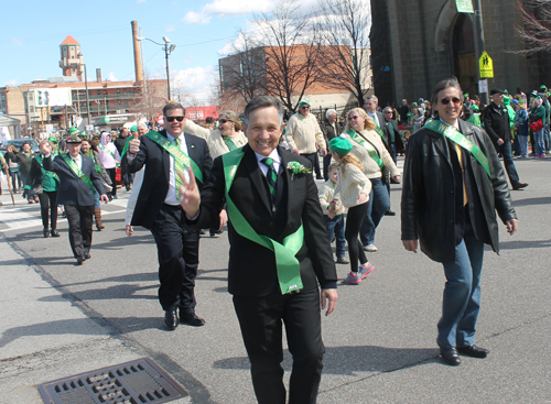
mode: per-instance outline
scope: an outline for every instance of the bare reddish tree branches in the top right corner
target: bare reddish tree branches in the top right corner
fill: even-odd
[[[518,0],[517,7],[522,17],[517,33],[528,45],[518,53],[551,52],[551,0]]]

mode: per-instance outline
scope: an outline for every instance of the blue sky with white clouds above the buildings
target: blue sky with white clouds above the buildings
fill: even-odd
[[[130,22],[136,20],[141,36],[159,43],[168,36],[176,45],[170,55],[171,78],[199,103],[208,105],[218,59],[227,55],[239,29],[251,29],[253,13],[269,12],[274,3],[274,0],[6,2],[0,36],[0,86],[61,76],[60,44],[67,35],[80,43],[88,80],[96,79],[96,68],[101,69],[104,79],[134,80]],[[306,12],[315,4],[316,0],[300,2]],[[162,46],[143,41],[143,62],[149,77],[166,77]]]

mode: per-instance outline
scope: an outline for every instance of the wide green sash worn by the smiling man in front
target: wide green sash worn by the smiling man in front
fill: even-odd
[[[239,209],[235,206],[234,201],[229,198],[229,188],[231,187],[231,183],[234,182],[237,167],[239,166],[242,156],[242,148],[239,148],[233,152],[223,154],[222,157],[224,163],[224,174],[226,177],[226,207],[229,219],[231,220],[231,226],[234,226],[234,229],[236,229],[240,236],[273,251],[278,269],[279,285],[283,295],[292,292],[299,292],[302,290],[303,285],[301,280],[300,263],[294,255],[296,255],[304,243],[304,228],[301,223],[301,227],[294,233],[283,239],[283,244],[280,244],[267,236],[258,234],[255,231],[247,219],[245,219],[241,215]]]

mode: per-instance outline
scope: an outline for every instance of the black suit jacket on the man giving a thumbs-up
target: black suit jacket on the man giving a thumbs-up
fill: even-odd
[[[160,133],[166,138],[165,130]],[[183,135],[187,145],[187,155],[197,164],[203,173],[203,181],[206,181],[213,167],[213,159],[208,152],[206,141],[190,133]],[[129,173],[136,173],[144,164],[145,174],[136,203],[131,225],[151,229],[169,192],[170,153],[145,135],[140,139],[140,151],[132,161],[128,162],[128,171]],[[197,184],[201,189],[203,183],[197,179]]]

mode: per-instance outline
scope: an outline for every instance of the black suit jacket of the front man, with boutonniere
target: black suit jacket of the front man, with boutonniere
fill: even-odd
[[[282,242],[283,239],[304,226],[304,244],[296,253],[301,266],[303,291],[317,287],[334,287],[337,280],[335,263],[323,219],[317,188],[311,174],[291,173],[287,165],[296,161],[306,167],[311,163],[278,146],[281,156],[281,170],[278,177],[277,211],[272,212],[272,204],[257,157],[252,149],[244,146],[244,157],[239,164],[229,197],[249,225],[259,234]],[[208,228],[218,220],[219,211],[225,203],[225,175],[223,156],[215,160],[213,172],[201,193],[201,210],[193,222],[196,228]],[[284,184],[279,184],[284,182]],[[283,186],[281,195],[280,188]],[[228,223],[230,250],[228,291],[237,296],[266,296],[279,287],[276,258],[272,251],[240,236]]]

